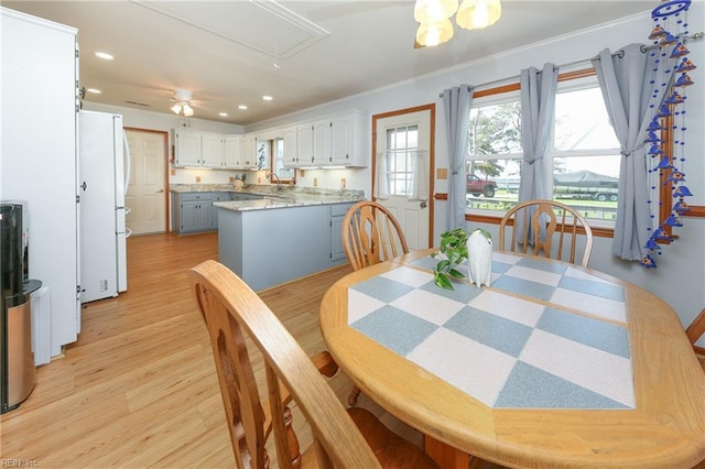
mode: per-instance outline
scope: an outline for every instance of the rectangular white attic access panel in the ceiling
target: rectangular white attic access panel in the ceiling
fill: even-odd
[[[328,31],[271,0],[131,1],[282,59],[329,35]]]

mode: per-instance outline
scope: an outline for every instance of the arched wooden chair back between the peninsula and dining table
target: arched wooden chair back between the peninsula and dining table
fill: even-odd
[[[358,201],[348,209],[343,220],[343,248],[356,271],[409,252],[397,218],[372,200]]]

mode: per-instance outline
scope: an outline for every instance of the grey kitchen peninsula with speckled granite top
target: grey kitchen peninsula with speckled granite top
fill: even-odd
[[[345,264],[343,219],[362,198],[361,190],[284,189],[214,203],[218,261],[254,291]]]

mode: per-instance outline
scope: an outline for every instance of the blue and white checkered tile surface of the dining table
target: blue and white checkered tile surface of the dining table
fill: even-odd
[[[348,324],[491,407],[634,408],[621,286],[495,252],[490,287],[445,291],[435,263],[352,285]]]

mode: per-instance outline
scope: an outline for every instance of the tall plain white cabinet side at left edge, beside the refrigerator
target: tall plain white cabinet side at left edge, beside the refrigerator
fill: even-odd
[[[4,7],[0,24],[0,199],[28,201],[29,277],[51,309],[33,334],[58,356],[80,331],[77,31]]]

